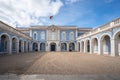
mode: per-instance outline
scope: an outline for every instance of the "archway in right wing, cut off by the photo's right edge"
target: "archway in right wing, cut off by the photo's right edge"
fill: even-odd
[[[115,55],[120,55],[120,31],[116,33],[114,40],[115,40]]]

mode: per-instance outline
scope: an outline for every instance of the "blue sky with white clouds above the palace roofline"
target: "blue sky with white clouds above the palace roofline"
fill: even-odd
[[[120,0],[0,0],[0,20],[12,27],[96,28],[120,17],[119,6]]]

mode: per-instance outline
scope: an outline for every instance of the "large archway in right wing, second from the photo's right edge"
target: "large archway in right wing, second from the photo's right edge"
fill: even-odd
[[[111,42],[110,36],[104,35],[101,38],[101,54],[108,54],[111,53]]]

